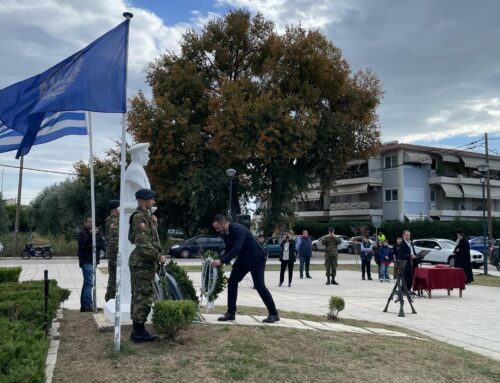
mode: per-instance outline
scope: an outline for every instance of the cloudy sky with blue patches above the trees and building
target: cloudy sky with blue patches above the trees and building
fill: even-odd
[[[134,13],[128,95],[149,94],[145,65],[178,49],[186,29],[232,8],[261,12],[278,30],[297,23],[320,29],[353,71],[373,70],[385,92],[378,110],[383,141],[457,147],[488,132],[492,154],[500,153],[497,0],[2,0],[0,89],[80,50],[127,10]],[[103,155],[120,136],[120,116],[95,115],[93,127],[94,150]],[[71,172],[88,153],[88,137],[69,136],[35,146],[25,166]],[[17,166],[14,156],[0,154],[0,165]],[[0,166],[2,175],[4,197],[15,197],[18,171]],[[65,177],[26,171],[23,203]]]

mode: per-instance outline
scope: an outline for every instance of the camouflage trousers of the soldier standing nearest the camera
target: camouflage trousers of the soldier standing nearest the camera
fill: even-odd
[[[132,290],[130,316],[132,317],[132,321],[138,323],[145,323],[147,321],[154,302],[154,280],[154,267],[130,266],[130,285]]]

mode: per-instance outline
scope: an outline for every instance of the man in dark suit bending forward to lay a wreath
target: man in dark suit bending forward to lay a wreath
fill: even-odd
[[[269,311],[269,316],[263,320],[265,323],[274,323],[280,320],[273,297],[264,283],[264,269],[266,254],[264,249],[250,231],[238,223],[229,223],[222,215],[216,215],[213,227],[222,235],[226,245],[226,253],[219,259],[212,261],[213,267],[228,264],[235,257],[231,275],[229,276],[227,292],[227,312],[219,321],[234,320],[236,315],[236,299],[238,297],[238,284],[250,272],[255,289],[260,295]]]

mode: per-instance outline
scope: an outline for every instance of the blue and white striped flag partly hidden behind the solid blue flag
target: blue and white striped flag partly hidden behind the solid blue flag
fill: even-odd
[[[85,112],[46,113],[33,145],[45,144],[68,135],[87,134]],[[0,153],[18,150],[23,135],[0,121]]]

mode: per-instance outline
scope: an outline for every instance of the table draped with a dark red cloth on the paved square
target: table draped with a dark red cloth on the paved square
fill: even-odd
[[[450,295],[450,290],[460,289],[460,298],[462,298],[465,282],[463,269],[456,267],[417,267],[413,274],[413,290],[418,291],[419,295],[422,290],[427,291],[429,299],[432,297],[431,290],[436,289],[446,289],[448,295]]]

